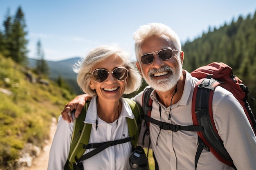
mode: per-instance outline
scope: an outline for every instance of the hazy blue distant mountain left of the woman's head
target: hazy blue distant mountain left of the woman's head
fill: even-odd
[[[58,62],[47,61],[49,66],[49,79],[56,80],[59,76],[64,79],[77,95],[82,94],[80,87],[76,83],[76,73],[72,70],[74,64],[81,60],[81,57],[74,57]],[[29,67],[36,67],[36,59],[29,58]]]

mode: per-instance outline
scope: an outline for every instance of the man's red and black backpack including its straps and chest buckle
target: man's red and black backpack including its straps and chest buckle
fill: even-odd
[[[147,131],[149,133],[149,122],[157,124],[160,128],[165,130],[189,130],[196,131],[199,136],[198,150],[195,155],[195,169],[197,167],[198,159],[203,149],[211,151],[221,162],[234,167],[234,163],[229,156],[229,153],[223,145],[223,141],[218,135],[218,131],[213,121],[212,98],[214,90],[217,86],[230,91],[234,97],[243,106],[245,114],[250,121],[250,124],[256,132],[256,120],[252,109],[247,102],[247,99],[254,101],[249,93],[249,88],[242,84],[242,81],[233,75],[232,68],[224,63],[213,62],[207,66],[202,66],[191,72],[193,77],[200,79],[195,86],[192,99],[192,119],[193,126],[179,126],[157,121],[150,117],[152,110],[152,99],[150,94],[153,88],[144,90],[143,95],[143,110],[145,121],[147,122]],[[255,133],[256,134],[256,133]]]

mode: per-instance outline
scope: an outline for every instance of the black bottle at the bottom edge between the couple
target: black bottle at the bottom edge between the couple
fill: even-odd
[[[136,146],[129,157],[130,170],[149,170],[148,158],[141,146]]]

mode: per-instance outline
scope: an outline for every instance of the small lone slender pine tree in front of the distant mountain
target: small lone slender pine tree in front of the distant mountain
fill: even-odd
[[[49,66],[45,61],[45,54],[43,52],[41,41],[38,40],[36,43],[36,70],[38,74],[48,75],[49,74]]]

